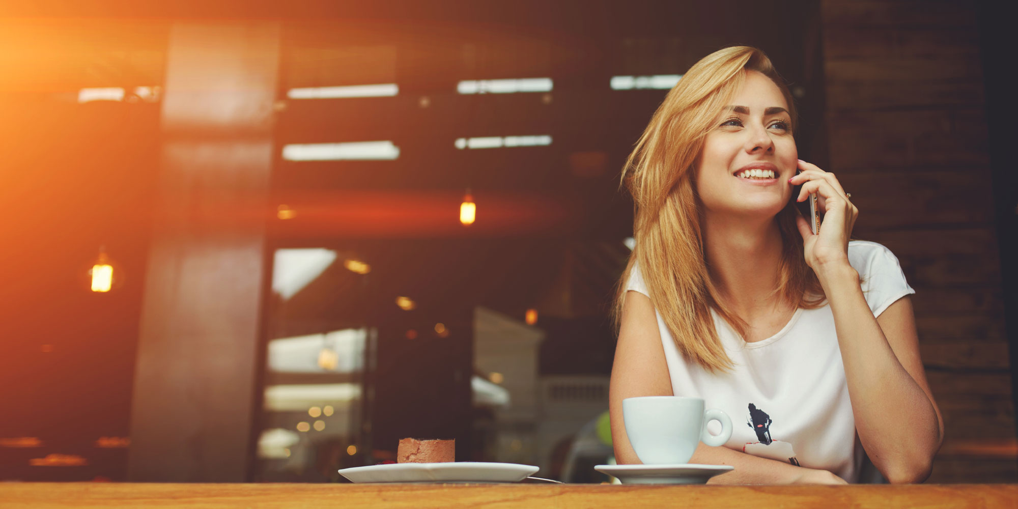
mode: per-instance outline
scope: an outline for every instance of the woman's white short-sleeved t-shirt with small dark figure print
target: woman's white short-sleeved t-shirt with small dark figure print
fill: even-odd
[[[874,317],[915,293],[887,247],[853,240],[848,243],[848,260],[863,278],[862,291]],[[649,296],[635,265],[626,289]],[[703,398],[708,408],[724,410],[734,428],[726,447],[858,482],[864,453],[857,441],[829,304],[796,309],[781,331],[752,343],[739,338],[712,309],[718,335],[735,364],[732,372],[718,375],[686,363],[661,314],[655,314],[673,394]],[[708,429],[718,434],[721,425],[715,420]]]

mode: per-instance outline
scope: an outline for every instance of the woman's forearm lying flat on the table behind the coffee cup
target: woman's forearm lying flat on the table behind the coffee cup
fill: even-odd
[[[816,471],[785,461],[753,456],[727,447],[711,447],[703,443],[696,447],[689,462],[735,467],[730,472],[711,477],[708,480],[709,485],[791,485],[802,483],[805,475]],[[834,474],[830,475],[832,480],[834,477]]]

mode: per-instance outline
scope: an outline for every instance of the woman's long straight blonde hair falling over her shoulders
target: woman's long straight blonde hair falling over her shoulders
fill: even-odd
[[[693,165],[718,115],[731,104],[749,70],[767,75],[781,90],[795,132],[792,96],[767,55],[746,46],[725,48],[693,64],[668,93],[622,170],[622,185],[635,206],[636,244],[619,281],[615,323],[621,321],[626,282],[638,264],[651,301],[679,352],[687,362],[712,373],[728,371],[733,364],[718,337],[711,308],[740,337],[745,337],[748,324],[732,312],[711,280]],[[777,216],[784,252],[778,267],[781,284],[772,295],[781,295],[798,307],[821,307],[826,297],[806,265],[795,217],[793,201]]]

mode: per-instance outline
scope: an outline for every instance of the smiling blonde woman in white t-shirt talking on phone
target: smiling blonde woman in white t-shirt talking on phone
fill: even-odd
[[[858,210],[798,159],[794,127],[767,56],[726,48],[689,69],[630,155],[635,246],[609,398],[619,463],[641,462],[623,400],[674,395],[747,425],[697,447],[692,463],[735,466],[711,483],[857,483],[867,453],[892,483],[928,476],[944,432],[914,290],[889,249],[849,241]],[[809,194],[819,234],[795,207]]]

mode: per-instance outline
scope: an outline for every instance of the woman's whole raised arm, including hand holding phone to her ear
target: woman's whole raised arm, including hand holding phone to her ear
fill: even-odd
[[[855,429],[866,454],[891,483],[921,483],[944,441],[944,419],[926,384],[911,300],[898,299],[873,318],[848,263],[848,239],[859,210],[833,173],[799,161],[798,201],[821,197],[824,227],[813,234],[796,218],[803,256],[819,279],[834,314]]]

